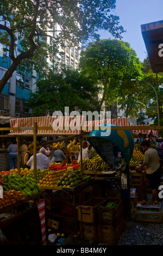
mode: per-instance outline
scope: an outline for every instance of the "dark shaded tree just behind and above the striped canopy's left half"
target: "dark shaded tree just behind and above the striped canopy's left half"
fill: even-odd
[[[33,108],[33,116],[46,114],[46,109],[70,112],[95,111],[98,103],[98,87],[83,72],[65,69],[61,74],[49,71],[48,78],[37,80],[36,90],[30,96],[27,106]]]

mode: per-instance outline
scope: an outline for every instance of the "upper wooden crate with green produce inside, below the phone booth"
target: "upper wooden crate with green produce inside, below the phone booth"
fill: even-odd
[[[117,203],[116,208],[104,206],[106,203],[115,202]],[[121,220],[123,215],[123,204],[121,198],[108,198],[98,208],[98,220],[100,224],[116,224]]]

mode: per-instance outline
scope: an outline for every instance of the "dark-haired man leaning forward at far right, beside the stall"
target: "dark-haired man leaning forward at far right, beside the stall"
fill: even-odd
[[[141,142],[141,147],[145,151],[143,163],[135,169],[146,167],[146,178],[149,179],[149,186],[152,189],[153,201],[158,200],[159,186],[161,183],[160,161],[158,152],[151,147],[148,141]]]

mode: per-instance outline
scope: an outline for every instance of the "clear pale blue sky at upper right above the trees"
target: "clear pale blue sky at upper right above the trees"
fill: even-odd
[[[126,31],[123,41],[130,44],[140,61],[147,57],[145,42],[141,34],[141,25],[163,20],[163,0],[116,0],[114,14],[120,17],[120,24]],[[101,32],[101,39],[110,38],[110,34]]]

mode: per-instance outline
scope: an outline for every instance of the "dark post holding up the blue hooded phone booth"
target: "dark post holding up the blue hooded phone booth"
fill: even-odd
[[[130,174],[128,165],[121,172],[121,199],[124,218],[130,219]]]

